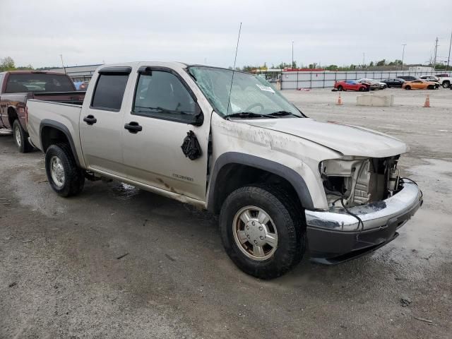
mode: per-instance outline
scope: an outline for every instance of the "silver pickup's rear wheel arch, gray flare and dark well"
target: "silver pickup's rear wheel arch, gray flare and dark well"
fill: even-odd
[[[64,124],[58,121],[53,121],[49,119],[43,119],[40,124],[40,141],[42,152],[46,152],[50,145],[66,144],[71,148],[74,160],[76,160],[76,165],[81,167],[78,161],[78,155],[76,152],[76,147],[73,143],[71,132],[64,126]]]

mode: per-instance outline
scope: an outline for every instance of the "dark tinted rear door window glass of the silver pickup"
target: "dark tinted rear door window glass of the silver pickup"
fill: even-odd
[[[128,80],[128,73],[100,73],[91,108],[119,111]]]

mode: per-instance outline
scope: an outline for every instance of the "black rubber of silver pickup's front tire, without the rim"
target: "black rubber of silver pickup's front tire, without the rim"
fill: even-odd
[[[231,260],[245,273],[261,279],[283,275],[302,260],[306,249],[306,223],[302,208],[293,197],[273,185],[244,186],[227,196],[220,212],[220,233]],[[278,231],[278,246],[273,256],[256,261],[239,249],[234,240],[234,216],[245,206],[256,206],[268,213]]]

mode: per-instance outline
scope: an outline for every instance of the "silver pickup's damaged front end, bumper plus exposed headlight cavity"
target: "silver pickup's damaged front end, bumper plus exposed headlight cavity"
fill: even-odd
[[[328,210],[305,210],[311,260],[340,263],[396,239],[423,202],[417,184],[399,176],[398,159],[343,157],[319,164]]]

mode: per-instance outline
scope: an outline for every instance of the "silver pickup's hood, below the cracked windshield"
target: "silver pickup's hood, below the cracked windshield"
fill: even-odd
[[[403,141],[387,134],[337,122],[287,118],[250,119],[246,124],[299,136],[337,150],[343,155],[390,157],[408,150],[408,146]]]

